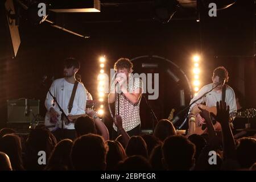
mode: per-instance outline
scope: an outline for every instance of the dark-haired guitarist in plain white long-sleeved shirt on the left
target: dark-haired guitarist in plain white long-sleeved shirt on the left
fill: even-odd
[[[84,85],[75,78],[79,68],[80,63],[76,59],[65,59],[64,78],[53,81],[51,88],[49,88],[66,115],[85,114],[86,90]],[[75,139],[74,123],[71,123],[71,119],[67,122],[65,117],[61,117],[60,109],[57,104],[54,104],[49,92],[46,96],[45,105],[47,109],[45,125],[53,132],[55,137],[57,139]]]

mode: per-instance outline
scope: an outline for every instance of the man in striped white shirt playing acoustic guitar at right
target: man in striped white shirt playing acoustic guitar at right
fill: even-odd
[[[214,88],[214,86],[217,86],[218,84],[219,86],[217,86],[215,89],[212,90],[212,92],[208,93],[206,96],[193,104],[190,109],[193,110],[195,109],[195,106],[199,106],[200,104],[204,103],[207,107],[216,106],[217,101],[225,100],[230,108],[229,113],[236,113],[237,104],[234,90],[229,85],[225,84],[225,82],[228,82],[228,80],[229,76],[226,68],[217,67],[216,69],[214,69],[212,76],[213,82],[211,84],[203,86],[203,88],[201,88],[197,93],[197,96],[195,96],[191,100],[191,103],[197,100],[199,97],[203,96],[203,94],[208,92],[210,89]],[[195,122],[196,120],[199,121],[200,125],[205,124],[205,119],[201,117],[200,113],[191,113],[189,117],[189,127],[191,127],[191,122]]]

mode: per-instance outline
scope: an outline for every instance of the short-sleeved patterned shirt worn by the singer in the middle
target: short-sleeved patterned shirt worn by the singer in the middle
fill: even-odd
[[[127,90],[129,93],[133,93],[135,89],[143,89],[142,80],[129,76],[129,84],[127,84]],[[143,91],[142,91],[143,92]],[[141,124],[141,118],[139,117],[139,104],[141,97],[137,104],[133,104],[129,101],[123,93],[119,94],[119,115],[122,118],[123,129],[130,131]],[[118,99],[115,98],[115,113],[117,114]],[[113,123],[113,128],[117,131],[117,127]]]

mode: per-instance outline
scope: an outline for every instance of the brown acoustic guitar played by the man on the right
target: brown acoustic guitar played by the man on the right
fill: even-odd
[[[198,108],[201,107],[202,109],[205,109],[209,111],[209,113],[217,114],[217,107],[212,106],[212,107],[207,107],[203,104],[200,104],[199,106],[195,106],[192,108],[191,113],[193,115],[199,114],[201,110]],[[246,109],[245,111],[240,111],[237,113],[231,113],[230,114],[230,122],[232,122],[233,118],[232,117],[237,117],[237,118],[253,118],[256,116],[256,109],[250,108]],[[213,122],[213,127],[215,130],[221,130],[221,125],[219,122],[217,122],[215,119],[212,119]],[[199,120],[196,118],[196,128],[195,128],[195,134],[201,135],[207,132],[207,126],[205,124],[201,124]]]

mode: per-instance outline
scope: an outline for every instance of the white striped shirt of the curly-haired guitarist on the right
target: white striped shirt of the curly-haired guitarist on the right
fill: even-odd
[[[191,100],[190,104],[193,101],[197,100],[199,97],[203,96],[204,93],[208,92],[212,88],[213,83],[203,86],[203,88],[201,88],[197,95]],[[199,101],[197,101],[195,104],[193,104],[190,109],[192,109],[195,105],[202,104],[204,102],[208,107],[216,106],[216,102],[220,102],[221,100],[222,92],[216,92],[215,90],[213,90],[212,92],[201,98]],[[237,112],[236,96],[234,94],[234,90],[229,85],[226,85],[225,102],[229,106],[229,113]]]

